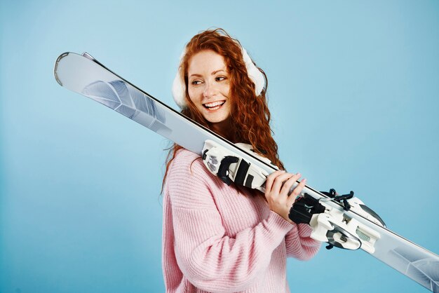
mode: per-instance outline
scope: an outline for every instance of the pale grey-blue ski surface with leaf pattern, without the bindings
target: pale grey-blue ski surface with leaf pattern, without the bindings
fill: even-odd
[[[211,139],[223,147],[233,149],[246,161],[266,172],[275,171],[270,165],[182,116],[163,102],[117,76],[87,53],[83,55],[63,53],[55,62],[54,74],[61,86],[118,111],[189,151],[201,155],[205,140]],[[304,192],[314,198],[324,198],[325,203],[329,203],[332,208],[343,210],[342,205],[310,186],[306,186]],[[374,251],[370,253],[373,257],[395,268],[430,291],[439,293],[438,255],[353,211],[344,211],[344,214],[346,218],[356,219],[365,228],[372,229],[379,234],[377,242],[374,243]],[[366,246],[367,236],[360,238]]]

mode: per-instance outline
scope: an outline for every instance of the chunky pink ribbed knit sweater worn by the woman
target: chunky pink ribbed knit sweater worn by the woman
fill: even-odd
[[[309,226],[227,186],[184,149],[168,170],[163,209],[166,292],[289,292],[286,257],[310,259],[320,247]]]

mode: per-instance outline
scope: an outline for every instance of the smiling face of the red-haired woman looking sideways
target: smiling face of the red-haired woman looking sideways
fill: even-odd
[[[191,57],[187,71],[189,98],[207,121],[222,125],[230,116],[230,81],[224,57],[203,50]]]

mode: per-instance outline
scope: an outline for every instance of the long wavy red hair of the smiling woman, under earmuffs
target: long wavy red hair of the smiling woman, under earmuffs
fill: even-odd
[[[248,76],[247,67],[245,67],[243,60],[241,44],[238,40],[232,39],[224,29],[206,30],[196,34],[191,41],[187,43],[179,70],[186,84],[186,106],[182,109],[181,113],[206,128],[212,129],[211,123],[196,109],[188,93],[187,72],[189,62],[192,56],[203,50],[212,50],[222,55],[229,74],[231,123],[234,126],[233,129],[235,133],[229,133],[224,138],[234,143],[244,142],[251,144],[252,149],[257,154],[269,158],[273,165],[283,170],[283,163],[279,160],[278,156],[278,145],[272,137],[272,131],[269,125],[271,116],[266,101],[266,88],[262,90],[259,96],[256,96],[255,83],[253,83]],[[265,76],[264,71],[259,67],[257,68]],[[179,149],[182,149],[182,147],[178,144],[174,144],[173,147],[170,147],[163,184],[166,181],[170,163],[175,158],[175,154],[177,154]]]

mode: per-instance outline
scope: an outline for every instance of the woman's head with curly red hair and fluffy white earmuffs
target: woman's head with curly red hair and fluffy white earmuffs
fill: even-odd
[[[222,29],[205,31],[191,39],[173,84],[173,96],[182,114],[231,142],[251,144],[255,151],[283,168],[271,136],[265,93],[264,71]],[[222,101],[226,102],[219,110],[226,116],[205,116],[213,114],[209,107],[216,109],[215,104],[209,103]],[[232,126],[234,131],[229,131]]]

